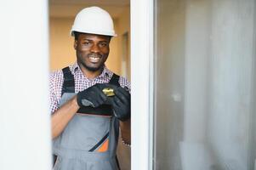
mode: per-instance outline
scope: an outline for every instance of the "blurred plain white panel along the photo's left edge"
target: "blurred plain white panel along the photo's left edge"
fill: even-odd
[[[47,170],[47,1],[2,1],[0,20],[0,169]]]

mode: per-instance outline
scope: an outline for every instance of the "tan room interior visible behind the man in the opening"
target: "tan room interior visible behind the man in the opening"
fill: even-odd
[[[73,48],[74,38],[70,36],[71,26],[76,14],[89,6],[99,6],[111,14],[114,20],[117,37],[111,38],[110,54],[105,63],[106,67],[120,76],[130,80],[130,2],[129,0],[107,1],[49,1],[50,27],[50,71],[56,71],[76,62]],[[120,137],[121,138],[121,137]],[[119,139],[117,157],[120,167],[130,169],[130,148]]]

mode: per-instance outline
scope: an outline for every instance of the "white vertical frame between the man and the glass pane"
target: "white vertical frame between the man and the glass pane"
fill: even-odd
[[[154,0],[131,0],[132,170],[152,169]]]

